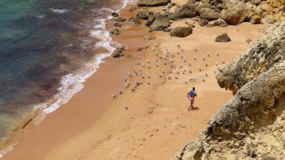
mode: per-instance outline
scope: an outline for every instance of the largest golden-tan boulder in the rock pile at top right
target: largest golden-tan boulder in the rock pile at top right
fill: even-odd
[[[241,1],[232,6],[232,8],[223,11],[222,19],[231,25],[237,25],[244,21],[250,21],[252,15],[254,14],[250,7],[251,6],[249,6],[249,4],[246,5]]]

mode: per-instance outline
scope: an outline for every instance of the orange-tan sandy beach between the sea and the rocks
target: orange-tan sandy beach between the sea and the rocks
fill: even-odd
[[[120,16],[127,19],[135,16],[136,12],[130,13],[129,8],[130,5]],[[247,50],[267,26],[242,23],[207,28],[197,25],[194,18],[174,21],[171,26],[186,26],[185,21],[195,24],[190,36],[177,38],[168,32],[155,31],[151,34],[156,39],[150,41],[142,39],[146,28],[124,23],[122,33],[113,36],[113,41],[128,46],[125,56],[105,58],[98,71],[83,84],[83,90],[48,114],[40,124],[28,124],[19,143],[2,159],[171,159],[207,127],[219,107],[232,97],[232,92],[217,83],[214,73],[218,67],[222,68]],[[111,28],[113,22],[108,25]],[[232,41],[214,42],[222,33],[227,33]],[[247,39],[252,42],[247,43]],[[177,54],[177,45],[182,47],[185,61]],[[138,51],[140,47],[145,49]],[[170,54],[164,62],[159,55],[166,57],[165,49]],[[126,58],[126,55],[131,56]],[[170,67],[171,55],[174,68]],[[150,68],[146,66],[147,60]],[[139,69],[144,78],[133,72]],[[133,76],[129,77],[128,72]],[[130,80],[129,88],[125,89],[123,76]],[[135,81],[140,85],[132,91]],[[188,111],[187,92],[192,87],[196,87],[197,98],[195,110]],[[118,97],[112,99],[112,93]]]

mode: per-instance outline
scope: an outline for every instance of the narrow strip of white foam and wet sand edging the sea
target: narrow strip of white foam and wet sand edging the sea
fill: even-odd
[[[126,6],[128,6],[130,4],[134,4],[134,3],[135,3],[134,1],[128,1],[128,0],[122,1],[122,8],[117,10],[117,11],[120,12],[123,9],[125,9]],[[113,18],[112,16],[108,16],[107,18],[105,18],[105,21],[106,21],[105,31],[106,32],[109,31],[109,28],[108,28],[109,22],[108,21],[110,21],[112,18]],[[116,46],[123,45],[123,43],[118,43],[118,41],[115,40],[116,38],[113,37],[112,35],[110,35],[110,38],[111,38],[110,47],[114,48],[114,50],[115,50]],[[123,63],[123,61],[128,61],[128,60],[120,60],[120,59],[119,60],[112,60],[112,58],[110,58],[110,54],[111,53],[100,53],[98,55],[95,55],[94,60],[91,60],[90,62],[86,63],[86,65],[88,65],[88,64],[92,65],[91,68],[90,67],[80,68],[79,70],[76,70],[73,73],[70,73],[68,75],[63,76],[63,78],[61,78],[61,83],[63,81],[68,80],[68,78],[66,78],[66,76],[73,76],[73,77],[78,76],[79,74],[82,74],[83,70],[86,70],[86,72],[84,72],[84,74],[83,74],[84,75],[83,77],[85,77],[85,78],[81,77],[80,78],[81,80],[76,80],[76,81],[72,82],[73,84],[61,85],[61,87],[66,87],[66,90],[70,90],[71,88],[73,88],[73,91],[66,91],[65,93],[68,93],[68,94],[65,94],[62,97],[60,95],[56,94],[50,100],[47,100],[46,102],[34,105],[34,107],[33,107],[34,110],[31,110],[31,112],[28,112],[28,114],[26,114],[24,120],[19,122],[19,124],[15,127],[14,130],[16,130],[16,132],[13,132],[11,134],[11,136],[4,139],[4,145],[5,146],[0,150],[1,151],[0,152],[0,159],[3,159],[3,156],[5,156],[5,154],[9,153],[10,151],[12,151],[14,149],[14,146],[16,146],[19,143],[19,139],[21,139],[21,137],[23,136],[22,134],[26,134],[26,132],[29,132],[29,129],[33,129],[38,124],[41,124],[43,119],[45,119],[45,117],[48,114],[58,110],[58,108],[62,107],[67,102],[69,102],[69,100],[71,100],[71,98],[74,95],[78,94],[79,91],[83,90],[84,89],[83,84],[90,77],[94,76],[94,74],[101,67],[102,63],[105,63],[105,61],[107,61],[107,63],[113,63],[113,61],[119,61],[119,63]],[[98,58],[98,57],[101,57],[101,58]],[[132,59],[132,58],[130,58],[130,59]],[[132,60],[130,60],[130,63],[131,63],[131,61]],[[90,64],[90,63],[92,63],[92,64]],[[63,79],[66,79],[66,80],[63,80]],[[68,82],[68,83],[70,83],[70,82]],[[59,87],[59,88],[61,88],[61,87]]]

